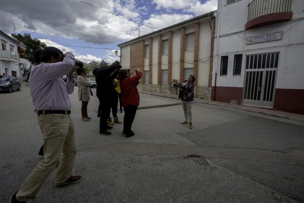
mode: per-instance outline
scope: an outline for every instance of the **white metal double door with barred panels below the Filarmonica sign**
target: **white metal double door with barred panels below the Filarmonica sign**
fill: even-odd
[[[246,56],[244,104],[272,107],[278,59],[279,53]]]

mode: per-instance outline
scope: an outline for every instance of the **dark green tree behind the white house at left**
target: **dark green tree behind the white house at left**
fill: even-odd
[[[24,33],[23,36],[21,34],[11,34],[16,40],[26,45],[25,59],[29,60],[32,64],[34,64],[34,51],[37,49],[44,49],[47,45],[37,38],[32,38],[30,33]]]

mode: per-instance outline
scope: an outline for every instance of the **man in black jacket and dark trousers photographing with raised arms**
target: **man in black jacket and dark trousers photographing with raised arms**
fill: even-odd
[[[105,61],[102,61],[98,64],[98,68],[93,70],[97,84],[96,96],[99,99],[98,116],[100,116],[100,135],[111,135],[111,132],[107,130],[113,127],[108,125],[107,118],[111,111],[111,96],[114,96],[112,80],[118,75],[120,67],[119,61],[115,61],[109,67]],[[112,72],[113,74],[110,75]]]

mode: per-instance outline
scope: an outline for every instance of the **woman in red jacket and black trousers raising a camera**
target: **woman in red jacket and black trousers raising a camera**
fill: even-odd
[[[131,130],[132,123],[136,114],[137,107],[139,106],[139,93],[137,85],[142,73],[139,69],[136,69],[136,76],[129,77],[127,69],[121,69],[119,72],[120,91],[121,91],[121,103],[125,110],[125,116],[123,118],[123,134],[126,134],[126,138],[134,135]]]

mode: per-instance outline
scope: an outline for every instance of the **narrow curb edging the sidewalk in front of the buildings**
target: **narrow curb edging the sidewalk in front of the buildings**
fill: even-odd
[[[177,99],[176,97],[169,96],[169,95],[168,96],[167,95],[158,95],[158,94],[154,94],[154,93],[143,93],[143,92],[139,92],[139,93],[140,94],[148,94],[148,95],[152,95],[152,96],[160,96],[160,97],[167,97],[167,98],[171,98],[171,99]],[[292,120],[292,121],[304,122],[304,119],[302,119],[302,118],[283,116],[283,115],[279,115],[279,114],[271,114],[271,113],[267,113],[267,112],[263,112],[263,111],[244,109],[244,108],[241,108],[241,107],[231,107],[231,106],[227,106],[227,105],[223,105],[223,104],[208,103],[208,102],[196,101],[196,100],[194,100],[194,101],[197,102],[197,103],[204,103],[204,104],[215,105],[215,106],[220,106],[220,107],[229,107],[229,108],[250,111],[250,112],[253,112],[253,113],[264,114],[264,115],[273,116],[273,117],[285,118],[285,119],[289,119],[289,120]]]

